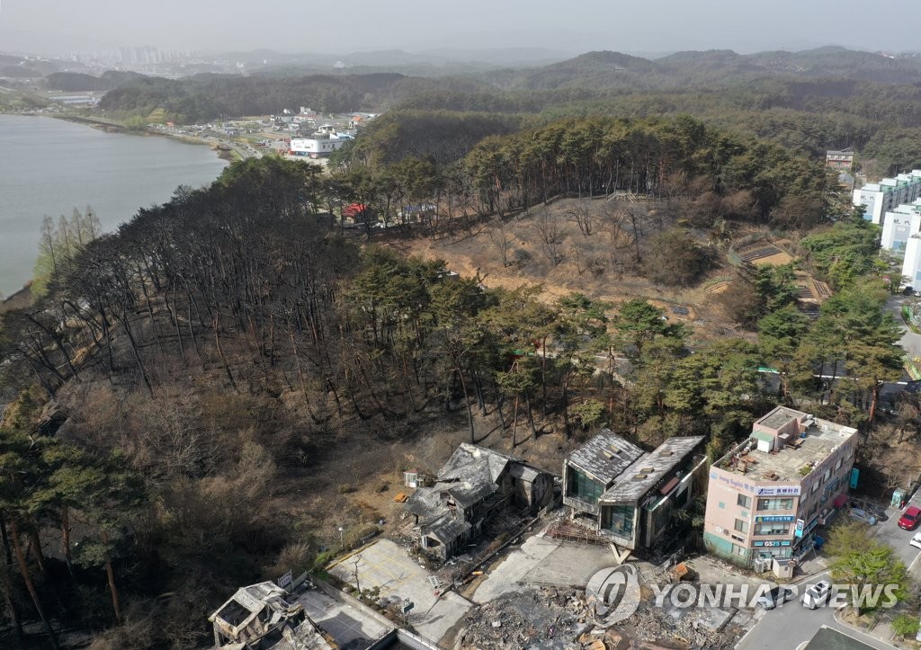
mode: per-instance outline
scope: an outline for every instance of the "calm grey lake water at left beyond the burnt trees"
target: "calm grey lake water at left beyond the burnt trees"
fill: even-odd
[[[180,185],[211,183],[226,166],[204,145],[0,115],[0,296],[31,278],[44,215],[56,222],[89,205],[111,231],[138,208],[169,201]]]

